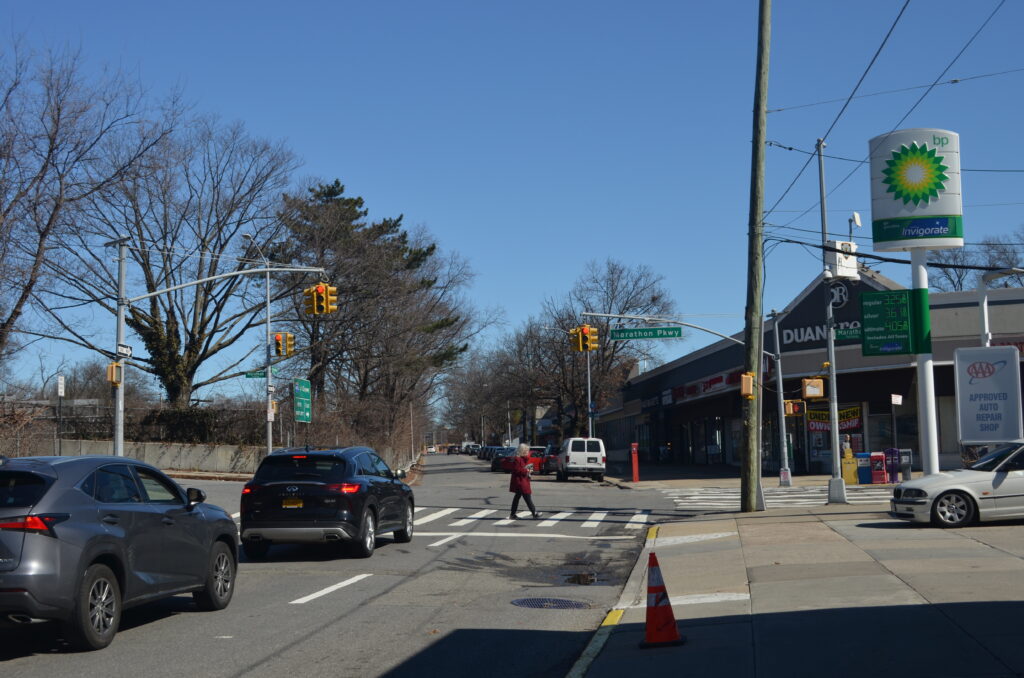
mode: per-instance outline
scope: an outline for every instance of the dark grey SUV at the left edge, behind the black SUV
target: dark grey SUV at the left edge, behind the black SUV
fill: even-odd
[[[223,609],[238,528],[205,500],[124,457],[0,456],[0,619],[55,620],[88,650],[110,645],[133,605],[191,592]]]

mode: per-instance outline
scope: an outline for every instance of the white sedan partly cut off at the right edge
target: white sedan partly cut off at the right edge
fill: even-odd
[[[1024,444],[989,446],[980,454],[967,468],[896,485],[889,515],[938,527],[1024,518]]]

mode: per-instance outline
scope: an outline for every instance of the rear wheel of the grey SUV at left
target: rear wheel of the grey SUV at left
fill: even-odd
[[[114,640],[120,624],[121,587],[117,578],[106,565],[89,565],[75,594],[75,610],[67,626],[69,642],[77,649],[102,649]]]

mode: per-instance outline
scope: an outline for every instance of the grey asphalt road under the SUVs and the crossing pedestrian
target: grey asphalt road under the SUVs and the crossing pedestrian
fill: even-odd
[[[53,676],[564,676],[614,605],[672,499],[585,479],[534,480],[540,521],[507,520],[508,475],[431,456],[411,544],[369,559],[275,546],[240,566],[227,609],[189,596],[125,612],[106,649],[73,653],[52,625],[3,632],[0,670]],[[236,513],[240,482],[184,480]],[[521,507],[524,510],[525,507]],[[518,604],[516,604],[518,602]]]

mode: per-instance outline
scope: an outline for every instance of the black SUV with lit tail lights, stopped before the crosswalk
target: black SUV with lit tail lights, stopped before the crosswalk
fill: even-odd
[[[370,448],[275,450],[242,489],[242,548],[345,542],[362,558],[377,536],[413,539],[413,491]]]

